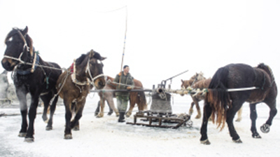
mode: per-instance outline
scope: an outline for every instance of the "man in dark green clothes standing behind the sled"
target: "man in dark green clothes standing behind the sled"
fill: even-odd
[[[114,79],[117,84],[117,90],[131,90],[134,88],[133,77],[130,74],[130,67],[125,65],[123,71],[121,71]],[[125,111],[127,111],[127,102],[130,98],[130,92],[116,92],[118,111],[120,117],[118,122],[125,122]]]

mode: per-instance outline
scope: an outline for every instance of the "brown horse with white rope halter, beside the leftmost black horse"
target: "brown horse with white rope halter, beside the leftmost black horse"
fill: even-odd
[[[81,55],[73,62],[73,66],[59,76],[56,88],[63,99],[66,110],[64,139],[72,139],[72,128],[79,129],[78,121],[83,114],[83,107],[90,89],[93,86],[97,89],[105,86],[103,64],[97,62],[104,59],[106,57],[101,57],[99,53],[90,50],[89,53]],[[73,73],[70,74],[72,69]],[[76,114],[73,121],[71,121],[72,112]]]

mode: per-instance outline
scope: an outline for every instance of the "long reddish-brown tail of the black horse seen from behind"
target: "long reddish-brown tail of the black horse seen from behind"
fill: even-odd
[[[221,130],[225,127],[227,118],[227,110],[231,107],[230,95],[227,92],[229,70],[227,67],[221,67],[216,71],[209,84],[208,93],[205,96],[205,104],[209,104],[212,110],[211,118],[213,123],[221,126]]]

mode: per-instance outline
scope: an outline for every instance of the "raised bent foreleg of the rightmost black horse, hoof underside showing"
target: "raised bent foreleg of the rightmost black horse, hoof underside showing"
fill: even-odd
[[[264,133],[267,133],[267,132],[269,132],[269,128],[272,125],[272,120],[273,120],[274,116],[277,114],[276,99],[274,98],[272,101],[265,100],[265,104],[267,104],[270,109],[269,118],[267,119],[265,124],[263,124],[260,127],[260,130]]]

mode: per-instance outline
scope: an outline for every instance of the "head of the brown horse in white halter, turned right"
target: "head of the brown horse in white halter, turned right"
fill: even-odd
[[[89,78],[90,81],[97,89],[104,88],[106,81],[103,75],[103,64],[102,60],[105,60],[106,57],[102,57],[99,53],[94,50],[90,50],[86,55],[81,55],[76,60],[76,66],[81,71],[85,71],[86,78]]]

